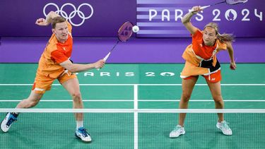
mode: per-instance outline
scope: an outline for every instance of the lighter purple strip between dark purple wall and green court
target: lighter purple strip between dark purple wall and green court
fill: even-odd
[[[47,38],[2,38],[0,63],[36,63]],[[182,52],[190,38],[133,38],[117,45],[108,63],[182,63]],[[76,38],[71,59],[91,63],[102,59],[116,43],[116,38]],[[265,38],[238,38],[233,44],[237,63],[265,63]],[[220,62],[228,63],[228,52],[218,53]]]

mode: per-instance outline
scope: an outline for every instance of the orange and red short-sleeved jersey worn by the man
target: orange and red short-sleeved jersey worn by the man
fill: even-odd
[[[69,36],[65,43],[59,42],[54,34],[49,38],[45,51],[40,57],[37,73],[50,78],[58,78],[64,72],[64,67],[59,64],[70,58],[73,47],[72,27],[69,22],[67,22],[67,26]]]

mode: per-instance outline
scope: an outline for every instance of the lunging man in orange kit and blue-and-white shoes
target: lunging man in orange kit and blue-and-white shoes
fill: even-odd
[[[16,108],[30,108],[37,105],[42,95],[51,89],[53,81],[57,79],[71,95],[73,108],[83,109],[83,101],[75,72],[102,68],[105,61],[101,59],[93,64],[73,64],[70,60],[73,48],[72,27],[65,18],[57,13],[49,12],[46,19],[39,18],[36,20],[36,24],[40,26],[52,24],[52,36],[40,57],[32,91],[27,99],[18,103]],[[6,114],[5,119],[1,122],[1,130],[7,132],[17,117],[18,113]],[[90,135],[83,127],[83,113],[76,113],[75,117],[75,135],[82,141],[90,142]]]

